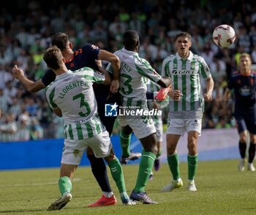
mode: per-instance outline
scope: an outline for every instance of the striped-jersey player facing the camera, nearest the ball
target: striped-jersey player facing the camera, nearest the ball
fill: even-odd
[[[185,132],[188,133],[188,185],[189,191],[196,191],[195,174],[197,171],[197,138],[201,133],[203,103],[212,100],[214,81],[206,61],[193,54],[191,35],[181,32],[175,37],[176,55],[170,55],[162,63],[162,76],[172,79],[173,90],[170,95],[170,111],[167,125],[167,163],[173,175],[173,181],[162,192],[172,191],[181,187],[183,182],[179,171],[178,153],[176,146],[178,139]],[[200,87],[200,75],[207,82],[206,93]]]

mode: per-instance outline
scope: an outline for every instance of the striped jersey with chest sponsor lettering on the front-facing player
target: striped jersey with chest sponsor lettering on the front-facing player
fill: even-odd
[[[189,58],[182,59],[178,53],[165,58],[162,63],[162,76],[172,79],[173,90],[181,90],[181,101],[170,98],[170,112],[193,111],[203,103],[200,87],[200,74],[204,79],[211,77],[206,61],[189,52]]]

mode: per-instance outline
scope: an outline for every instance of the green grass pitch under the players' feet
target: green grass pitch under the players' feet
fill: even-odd
[[[123,206],[110,179],[118,204],[101,208],[84,207],[97,200],[102,192],[91,169],[81,167],[75,173],[73,199],[61,211],[46,211],[50,203],[59,198],[59,169],[0,171],[0,214],[256,214],[256,173],[238,172],[237,165],[238,160],[200,162],[197,192],[188,192],[187,163],[181,163],[184,187],[162,193],[161,188],[170,183],[169,168],[163,164],[146,187],[158,205]],[[138,165],[124,166],[128,193],[135,186],[137,173]]]

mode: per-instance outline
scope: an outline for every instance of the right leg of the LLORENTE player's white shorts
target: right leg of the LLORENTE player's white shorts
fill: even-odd
[[[92,138],[87,139],[86,142],[93,150],[95,157],[108,156],[112,148],[107,130],[103,130],[101,133],[94,135]]]

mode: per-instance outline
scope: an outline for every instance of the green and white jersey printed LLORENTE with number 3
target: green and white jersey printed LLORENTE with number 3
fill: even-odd
[[[83,140],[102,132],[92,85],[104,80],[104,74],[84,67],[56,76],[47,87],[46,97],[50,107],[61,109],[64,117],[65,138]]]

